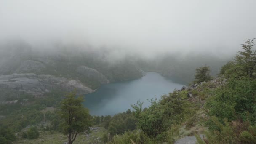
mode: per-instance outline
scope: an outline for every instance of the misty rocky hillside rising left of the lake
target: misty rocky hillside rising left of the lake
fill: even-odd
[[[143,71],[128,60],[109,63],[100,54],[76,50],[42,52],[30,45],[2,45],[0,62],[0,99],[27,93],[43,96],[50,91],[91,93],[101,84],[132,80]]]

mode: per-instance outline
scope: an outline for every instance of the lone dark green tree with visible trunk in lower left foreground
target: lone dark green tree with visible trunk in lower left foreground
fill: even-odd
[[[67,135],[68,144],[75,141],[78,133],[89,130],[91,126],[91,116],[89,110],[83,107],[83,101],[82,96],[76,98],[75,91],[67,94],[61,101],[61,128],[64,135]]]

